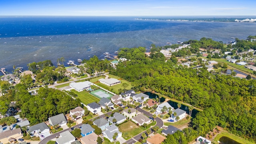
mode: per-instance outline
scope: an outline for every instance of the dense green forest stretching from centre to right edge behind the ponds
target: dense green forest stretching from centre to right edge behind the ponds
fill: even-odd
[[[256,140],[256,80],[183,68],[157,51],[148,58],[142,48],[121,48],[120,53],[130,61],[118,64],[112,74],[131,81],[135,89],[154,90],[204,109],[192,120],[198,135],[205,136],[218,125]]]

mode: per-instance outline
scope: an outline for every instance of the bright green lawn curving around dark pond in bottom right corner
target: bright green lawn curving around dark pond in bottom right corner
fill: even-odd
[[[222,136],[226,136],[240,144],[254,144],[253,142],[250,142],[248,140],[245,140],[244,138],[241,138],[239,136],[236,136],[234,134],[230,134],[229,132],[227,131],[222,131],[220,134],[217,134],[217,136],[214,138],[214,140],[212,140],[212,143],[214,144],[218,144],[218,141],[220,140],[220,138]]]

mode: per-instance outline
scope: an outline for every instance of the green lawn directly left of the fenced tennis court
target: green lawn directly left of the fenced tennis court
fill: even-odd
[[[96,96],[93,96],[89,92],[85,92],[85,91],[78,92],[76,90],[71,90],[71,91],[74,92],[75,94],[77,94],[76,98],[79,98],[82,101],[82,103],[84,103],[86,105],[90,104],[92,102],[99,102],[100,101],[99,98],[97,98]]]

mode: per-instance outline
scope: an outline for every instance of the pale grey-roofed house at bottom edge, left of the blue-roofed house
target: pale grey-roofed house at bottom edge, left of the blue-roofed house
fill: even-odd
[[[69,131],[60,133],[60,137],[56,138],[56,144],[71,144],[74,141],[76,138]]]

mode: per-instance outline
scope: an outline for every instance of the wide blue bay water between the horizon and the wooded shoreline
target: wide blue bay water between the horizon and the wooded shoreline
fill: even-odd
[[[137,20],[135,17],[3,17],[0,18],[0,68],[8,72],[31,62],[64,57],[76,61],[119,48],[202,37],[228,43],[232,37],[256,35],[256,23]]]

